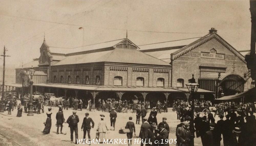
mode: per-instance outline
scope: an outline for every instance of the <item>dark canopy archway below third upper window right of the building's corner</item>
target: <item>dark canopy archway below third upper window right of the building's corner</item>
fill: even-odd
[[[145,101],[150,102],[150,107],[155,107],[158,100],[163,104],[166,101],[165,94],[161,92],[150,92],[145,98]]]

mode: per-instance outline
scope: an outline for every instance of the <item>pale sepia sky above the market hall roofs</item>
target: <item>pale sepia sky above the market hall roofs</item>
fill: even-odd
[[[125,38],[127,30],[143,45],[202,37],[211,27],[249,50],[249,8],[249,1],[1,0],[0,53],[5,45],[6,66],[18,67],[39,58],[44,35],[49,46],[74,48]]]

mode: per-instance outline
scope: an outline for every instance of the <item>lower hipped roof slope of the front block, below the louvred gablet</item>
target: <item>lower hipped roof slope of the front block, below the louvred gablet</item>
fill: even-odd
[[[66,64],[82,64],[95,62],[115,62],[115,63],[131,63],[131,64],[150,64],[170,66],[162,60],[154,58],[135,49],[113,49],[109,51],[92,52],[87,54],[79,54],[68,56],[55,65]]]

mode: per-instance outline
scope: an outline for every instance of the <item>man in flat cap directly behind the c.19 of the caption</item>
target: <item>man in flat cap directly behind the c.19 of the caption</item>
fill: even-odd
[[[156,139],[159,141],[158,145],[159,146],[168,146],[169,145],[169,141],[165,142],[166,139],[168,139],[168,131],[164,128],[164,123],[161,122],[159,123],[159,132],[157,133],[157,137]]]

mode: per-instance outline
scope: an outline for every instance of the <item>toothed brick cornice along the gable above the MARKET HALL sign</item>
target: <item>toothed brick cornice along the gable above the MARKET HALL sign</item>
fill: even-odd
[[[238,57],[241,61],[244,63],[244,56],[238,52],[235,48],[233,48],[228,42],[226,42],[223,38],[221,38],[217,33],[207,34],[206,36],[196,40],[193,43],[190,43],[189,45],[183,47],[182,49],[174,52],[171,54],[171,59],[175,60],[182,55],[194,50],[195,48],[201,46],[202,44],[210,41],[211,39],[216,39],[219,43],[221,43],[225,48],[227,48],[230,52],[232,52],[236,57]]]

